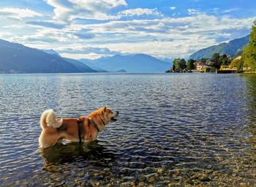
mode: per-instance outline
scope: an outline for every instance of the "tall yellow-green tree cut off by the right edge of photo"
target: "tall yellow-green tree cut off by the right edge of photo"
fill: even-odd
[[[252,70],[256,70],[256,19],[253,22],[252,32],[250,34],[249,43],[244,47],[242,58],[244,66],[249,66]]]

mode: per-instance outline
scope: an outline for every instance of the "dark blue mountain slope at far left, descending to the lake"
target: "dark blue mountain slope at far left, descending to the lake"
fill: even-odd
[[[0,56],[1,73],[94,72],[89,67],[72,64],[56,54],[48,54],[42,50],[7,42],[3,39],[0,39]]]

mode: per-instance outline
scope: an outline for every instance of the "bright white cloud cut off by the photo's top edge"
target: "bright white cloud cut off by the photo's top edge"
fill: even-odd
[[[127,6],[124,0],[47,0],[47,3],[54,7],[54,19],[69,23],[75,18],[94,19],[94,20],[118,20],[122,17],[132,17],[141,15],[153,15],[163,17],[161,12],[155,9],[125,9],[117,15],[110,15],[110,9]]]

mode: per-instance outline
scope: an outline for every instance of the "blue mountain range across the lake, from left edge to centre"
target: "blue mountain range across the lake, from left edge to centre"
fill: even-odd
[[[170,64],[136,54],[80,61],[63,58],[55,50],[39,50],[0,39],[0,73],[165,72]]]

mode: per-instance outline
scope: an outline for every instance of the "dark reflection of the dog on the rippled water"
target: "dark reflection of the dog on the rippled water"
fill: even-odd
[[[101,144],[102,142],[98,140],[89,143],[69,142],[62,144],[59,142],[50,148],[43,149],[41,156],[45,160],[44,170],[50,172],[53,167],[57,169],[67,164],[77,167],[88,167],[89,164],[95,167],[109,167],[115,156],[112,151]]]

